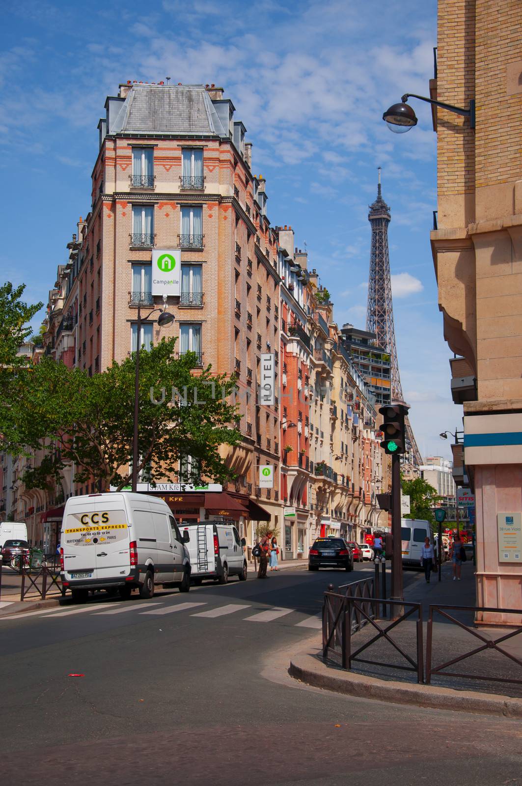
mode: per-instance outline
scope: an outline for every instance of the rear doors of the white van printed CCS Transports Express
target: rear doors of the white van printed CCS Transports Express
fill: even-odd
[[[122,499],[87,499],[71,506],[63,524],[65,578],[116,578],[130,573],[129,529]]]

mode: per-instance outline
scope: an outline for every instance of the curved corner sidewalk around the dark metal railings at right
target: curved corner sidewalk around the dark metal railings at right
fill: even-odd
[[[454,582],[451,578],[451,565],[447,563],[443,566],[442,582],[439,583],[436,580],[434,582],[432,579],[432,582],[426,584],[424,575],[419,573],[418,577],[414,578],[414,581],[406,587],[405,601],[423,604],[425,656],[429,604],[474,606],[476,601],[473,570],[472,564],[463,565],[461,581]],[[476,630],[476,634],[486,639],[498,639],[515,630],[497,626],[475,628],[472,613],[461,611],[448,611],[447,613]],[[381,627],[386,627],[388,624],[390,623],[380,621]],[[355,652],[376,634],[377,630],[373,625],[367,625],[358,633],[353,634],[351,651]],[[399,623],[390,631],[389,636],[403,649],[403,652],[407,652],[410,657],[416,659],[415,623],[413,621],[410,622],[407,619]],[[366,660],[376,661],[377,664],[352,662],[350,671],[341,669],[340,658],[337,658],[336,655],[333,655],[327,663],[323,662],[320,639],[317,638],[314,643],[314,652],[309,648],[307,653],[299,653],[296,658],[292,658],[291,665],[291,673],[304,681],[311,681],[313,685],[320,685],[323,688],[329,687],[329,689],[357,696],[366,695],[379,700],[421,705],[428,702],[429,706],[437,707],[451,707],[453,703],[455,709],[498,711],[500,714],[520,712],[520,717],[522,717],[522,701],[520,701],[522,699],[522,668],[491,647],[446,668],[446,671],[463,676],[454,678],[445,674],[432,674],[431,685],[417,685],[414,672],[397,668],[409,664],[384,637],[380,637],[378,641],[369,645],[359,656]],[[442,615],[434,615],[432,667],[447,663],[466,652],[482,647],[483,644],[483,641],[480,641],[472,632],[464,630]],[[499,646],[511,656],[522,660],[522,633]],[[395,665],[395,668],[385,667],[383,663]],[[469,675],[473,674],[483,675],[489,679],[472,679]],[[498,678],[519,680],[520,684],[495,681]],[[508,704],[505,703],[506,701]],[[483,709],[484,706],[489,708]],[[477,707],[479,708],[477,709]]]

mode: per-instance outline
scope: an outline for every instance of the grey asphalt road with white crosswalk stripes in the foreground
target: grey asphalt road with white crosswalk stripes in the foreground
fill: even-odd
[[[346,579],[294,568],[0,620],[5,782],[522,784],[520,722],[289,678],[322,591]]]

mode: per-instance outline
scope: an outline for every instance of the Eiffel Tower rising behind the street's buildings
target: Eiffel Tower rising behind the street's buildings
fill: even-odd
[[[369,205],[368,220],[372,227],[372,242],[369,252],[368,305],[366,307],[366,330],[377,336],[377,346],[390,355],[390,381],[392,402],[404,403],[403,387],[399,374],[395,326],[393,324],[392,279],[388,254],[388,224],[392,220],[389,206],[380,193],[380,167],[377,183],[377,199]],[[415,442],[410,421],[406,418],[406,446],[410,449],[410,461],[421,465],[421,454]]]

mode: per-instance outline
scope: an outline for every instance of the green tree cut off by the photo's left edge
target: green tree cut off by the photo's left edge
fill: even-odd
[[[19,354],[20,347],[31,336],[29,321],[43,303],[28,306],[21,300],[25,285],[13,287],[10,281],[0,286],[0,435],[1,446],[13,435],[12,403],[19,396],[21,376],[26,375],[30,360]]]

